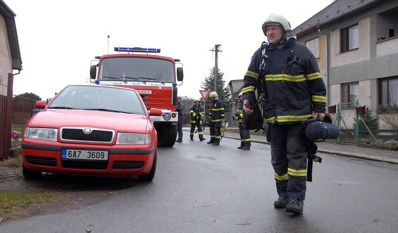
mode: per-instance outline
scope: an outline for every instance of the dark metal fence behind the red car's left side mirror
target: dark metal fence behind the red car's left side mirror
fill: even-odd
[[[11,146],[21,144],[22,134],[25,131],[26,122],[38,111],[34,107],[36,100],[13,95],[11,109]]]

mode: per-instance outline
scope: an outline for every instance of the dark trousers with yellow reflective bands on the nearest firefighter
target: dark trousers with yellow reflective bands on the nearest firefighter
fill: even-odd
[[[301,124],[270,125],[271,163],[280,197],[305,199],[307,148],[301,140]]]

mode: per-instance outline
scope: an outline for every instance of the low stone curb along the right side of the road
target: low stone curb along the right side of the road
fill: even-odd
[[[190,131],[190,130],[185,130],[185,131]],[[208,133],[204,133],[204,134],[209,135]],[[228,137],[228,136],[224,136],[224,137],[240,141],[240,138]],[[271,145],[271,143],[269,143],[269,142],[253,140],[253,139],[252,139],[252,142],[253,143],[261,143],[261,144]],[[339,152],[339,151],[332,151],[332,150],[325,150],[325,149],[323,149],[323,150],[322,149],[318,149],[318,153],[324,153],[324,154],[330,154],[330,155],[339,155],[339,156],[350,157],[350,158],[359,158],[359,159],[377,161],[377,162],[387,162],[387,163],[398,165],[398,159],[384,158],[384,157],[373,156],[373,155],[362,155],[362,154],[357,154],[357,153]]]

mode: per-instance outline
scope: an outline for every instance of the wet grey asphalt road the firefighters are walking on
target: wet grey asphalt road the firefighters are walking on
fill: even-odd
[[[270,146],[224,138],[220,146],[195,136],[160,148],[151,183],[85,208],[0,223],[1,233],[396,233],[398,165],[320,155],[307,182],[304,213],[274,209]],[[206,135],[205,137],[209,137]]]

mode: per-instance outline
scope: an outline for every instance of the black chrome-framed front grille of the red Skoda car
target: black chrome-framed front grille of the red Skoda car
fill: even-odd
[[[61,138],[63,140],[111,143],[113,131],[93,130],[90,134],[85,134],[82,129],[62,129]]]

